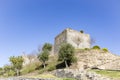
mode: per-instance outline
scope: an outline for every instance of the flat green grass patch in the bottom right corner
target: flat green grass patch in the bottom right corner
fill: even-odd
[[[120,70],[90,70],[110,78],[120,78]]]

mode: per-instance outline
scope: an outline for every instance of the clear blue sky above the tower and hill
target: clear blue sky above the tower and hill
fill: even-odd
[[[67,27],[120,55],[120,0],[0,0],[0,66],[10,56],[53,44]]]

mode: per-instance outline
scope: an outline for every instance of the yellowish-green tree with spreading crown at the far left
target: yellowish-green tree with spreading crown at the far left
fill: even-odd
[[[20,70],[22,69],[22,65],[23,65],[23,61],[24,61],[22,56],[17,56],[17,57],[11,56],[9,60],[12,63],[12,65],[17,73],[17,76],[19,76]]]

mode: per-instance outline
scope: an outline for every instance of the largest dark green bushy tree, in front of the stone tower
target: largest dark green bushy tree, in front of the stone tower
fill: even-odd
[[[76,61],[74,56],[75,49],[69,43],[64,43],[61,45],[58,55],[58,60],[64,61],[65,66],[68,68],[68,63]]]

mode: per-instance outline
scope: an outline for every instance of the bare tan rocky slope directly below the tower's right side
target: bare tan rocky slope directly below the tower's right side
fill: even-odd
[[[120,70],[120,56],[103,50],[77,50],[77,68],[99,68]]]

